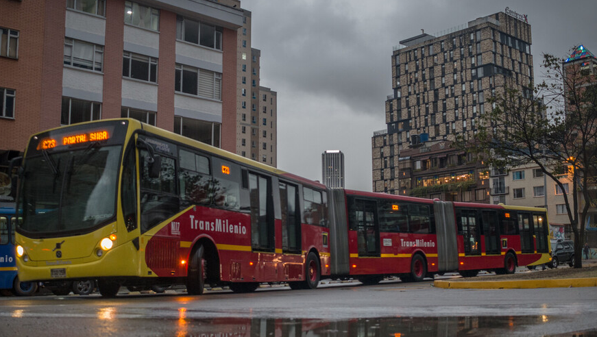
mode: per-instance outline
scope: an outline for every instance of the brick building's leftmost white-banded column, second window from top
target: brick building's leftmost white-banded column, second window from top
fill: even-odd
[[[64,38],[64,64],[93,71],[102,71],[103,46],[72,38]]]

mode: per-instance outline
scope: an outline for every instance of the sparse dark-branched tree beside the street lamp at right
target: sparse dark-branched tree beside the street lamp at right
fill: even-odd
[[[456,147],[492,166],[539,166],[563,191],[580,268],[587,213],[597,207],[597,76],[583,62],[562,60],[544,54],[541,84],[532,90],[506,86],[491,97],[493,108],[480,116],[478,133],[457,138]],[[572,181],[570,193],[562,175]]]

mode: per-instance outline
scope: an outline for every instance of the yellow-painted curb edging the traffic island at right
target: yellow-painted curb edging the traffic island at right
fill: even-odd
[[[532,289],[596,287],[597,277],[578,279],[522,279],[517,281],[443,281],[433,282],[436,288],[451,289]]]

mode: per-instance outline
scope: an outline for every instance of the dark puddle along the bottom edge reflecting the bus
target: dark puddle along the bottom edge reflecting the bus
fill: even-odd
[[[182,319],[177,336],[597,336],[597,329],[559,331],[548,316],[389,317],[325,321],[319,319]],[[559,325],[561,327],[561,325]],[[565,329],[565,328],[564,328]],[[578,329],[578,327],[576,327]],[[565,331],[565,330],[564,330]],[[546,333],[547,332],[547,333]]]

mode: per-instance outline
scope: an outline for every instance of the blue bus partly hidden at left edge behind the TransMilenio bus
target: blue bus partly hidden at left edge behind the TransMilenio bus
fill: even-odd
[[[30,296],[37,291],[35,282],[20,282],[14,258],[14,227],[19,219],[14,203],[0,203],[0,292]]]

